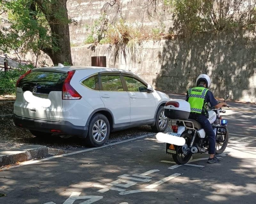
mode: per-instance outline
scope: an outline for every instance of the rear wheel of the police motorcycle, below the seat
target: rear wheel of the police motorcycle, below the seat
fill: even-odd
[[[186,141],[186,144],[188,147],[190,146],[192,136],[188,133],[184,132],[181,134],[180,137],[183,137]],[[172,158],[176,164],[187,164],[190,158],[192,157],[191,151],[189,151],[187,154],[184,154],[182,151],[182,146],[174,145],[176,153],[172,153]]]

